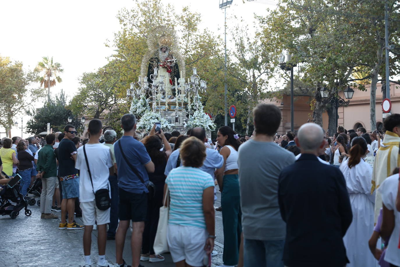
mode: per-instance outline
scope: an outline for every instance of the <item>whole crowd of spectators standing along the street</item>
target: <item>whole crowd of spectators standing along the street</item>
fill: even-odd
[[[332,137],[314,123],[278,135],[281,116],[275,105],[258,104],[251,136],[222,126],[213,140],[201,127],[138,134],[134,114],[122,116],[117,140],[93,119],[82,143],[72,125],[48,134],[46,144],[2,139],[1,169],[9,177],[18,169],[24,197],[41,179],[41,218],[60,211],[58,229],[84,229],[86,267],[95,228],[99,267],[164,261],[155,251],[162,237],[177,267],[207,265],[216,253],[217,185],[222,267],[400,267],[400,114],[385,118],[384,134],[338,126]],[[162,207],[168,226],[158,236]],[[107,240],[115,240],[116,265],[106,261]]]

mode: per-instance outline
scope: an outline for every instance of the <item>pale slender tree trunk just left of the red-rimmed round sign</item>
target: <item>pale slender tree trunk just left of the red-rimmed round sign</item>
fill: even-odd
[[[382,40],[379,40],[379,47],[378,51],[376,52],[376,62],[375,66],[372,69],[372,77],[371,77],[371,92],[370,92],[370,124],[371,124],[371,131],[376,129],[376,84],[378,83],[378,72],[380,66],[382,65],[383,60],[383,47],[384,43]],[[385,96],[383,97],[385,98]]]

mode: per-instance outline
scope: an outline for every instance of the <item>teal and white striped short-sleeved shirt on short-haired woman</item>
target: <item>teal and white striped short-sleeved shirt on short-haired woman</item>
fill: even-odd
[[[203,214],[203,191],[214,187],[210,174],[193,167],[172,169],[165,183],[170,191],[168,224],[206,228]]]

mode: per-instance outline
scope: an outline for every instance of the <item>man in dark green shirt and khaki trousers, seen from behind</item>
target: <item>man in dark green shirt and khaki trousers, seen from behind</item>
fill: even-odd
[[[36,177],[42,179],[42,193],[40,194],[40,211],[41,219],[58,219],[58,216],[51,213],[51,205],[53,202],[54,190],[56,188],[57,179],[57,163],[56,155],[54,154],[54,134],[46,135],[46,143],[40,150],[36,170]]]

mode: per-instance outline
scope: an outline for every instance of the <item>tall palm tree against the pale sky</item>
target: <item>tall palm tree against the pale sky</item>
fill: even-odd
[[[58,73],[64,72],[64,69],[61,68],[60,63],[53,63],[53,57],[49,59],[44,56],[43,61],[38,62],[35,70],[41,72],[41,76],[38,77],[37,81],[40,82],[40,86],[44,85],[44,88],[47,88],[47,102],[50,102],[50,87],[56,85],[56,81],[62,82]]]

